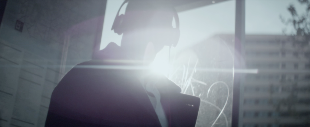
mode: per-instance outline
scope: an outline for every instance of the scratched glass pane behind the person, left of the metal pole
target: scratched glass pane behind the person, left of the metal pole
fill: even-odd
[[[120,45],[122,35],[111,31],[111,26],[122,2],[107,2],[100,49],[110,42]],[[170,60],[169,47],[164,47],[152,66],[179,85],[182,93],[201,98],[197,127],[231,126],[235,1],[209,1],[178,15],[178,45],[171,48]]]

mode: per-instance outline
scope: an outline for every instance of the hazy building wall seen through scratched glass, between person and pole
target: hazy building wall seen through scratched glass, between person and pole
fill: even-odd
[[[230,43],[229,43],[230,41]],[[213,37],[176,55],[169,79],[201,98],[196,127],[229,127],[232,112],[232,40]]]

